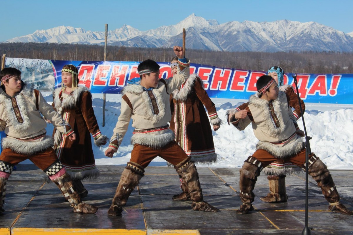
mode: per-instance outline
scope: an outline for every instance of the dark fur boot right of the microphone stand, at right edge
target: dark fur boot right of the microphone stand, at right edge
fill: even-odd
[[[305,170],[305,164],[303,165]],[[346,206],[340,203],[340,195],[336,190],[331,174],[327,166],[313,154],[309,159],[309,172],[308,174],[315,179],[317,186],[322,190],[326,200],[330,203],[329,209],[335,213],[343,215],[353,215],[353,212],[348,210]]]

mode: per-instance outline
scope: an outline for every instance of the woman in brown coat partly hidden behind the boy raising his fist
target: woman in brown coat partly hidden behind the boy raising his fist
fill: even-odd
[[[177,73],[178,58],[170,62],[172,76]],[[205,107],[207,112],[205,111]],[[217,154],[213,143],[214,131],[222,124],[218,117],[216,106],[208,97],[201,78],[191,74],[189,78],[170,95],[172,120],[169,128],[174,131],[175,141],[185,151],[191,160],[200,164],[217,162]],[[180,178],[182,193],[174,195],[173,200],[190,198],[183,179]]]

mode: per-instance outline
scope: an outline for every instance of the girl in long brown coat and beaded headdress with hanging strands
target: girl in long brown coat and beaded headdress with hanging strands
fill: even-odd
[[[81,197],[88,191],[81,180],[96,178],[96,168],[91,136],[96,146],[101,147],[109,138],[102,135],[92,107],[92,95],[85,86],[78,86],[78,70],[72,64],[65,65],[61,70],[62,87],[53,93],[53,107],[71,125],[76,133],[76,141],[65,141],[54,129],[54,149],[56,155],[71,175],[74,185]]]

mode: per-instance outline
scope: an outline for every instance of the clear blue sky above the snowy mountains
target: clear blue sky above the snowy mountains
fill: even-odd
[[[353,31],[352,0],[0,0],[0,6],[0,42],[61,25],[104,31],[104,24],[108,30],[127,24],[145,31],[177,24],[192,13],[220,24],[288,19]]]

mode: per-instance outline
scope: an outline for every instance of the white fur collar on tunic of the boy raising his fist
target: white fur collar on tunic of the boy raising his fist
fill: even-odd
[[[163,85],[164,86],[164,85]],[[159,87],[159,84],[158,86]],[[143,90],[143,87],[141,85],[137,84],[130,84],[127,85],[123,90],[122,90],[122,95],[125,95],[126,93],[134,94],[134,95],[140,95],[142,102],[143,102],[143,109],[146,111],[146,118],[150,119],[152,123],[157,123],[160,121],[165,113],[166,113],[166,107],[163,102],[163,95],[162,92],[158,89],[152,89],[152,94],[156,98],[156,103],[158,106],[159,113],[155,114],[153,111],[153,105],[150,97],[148,96],[148,93]]]

